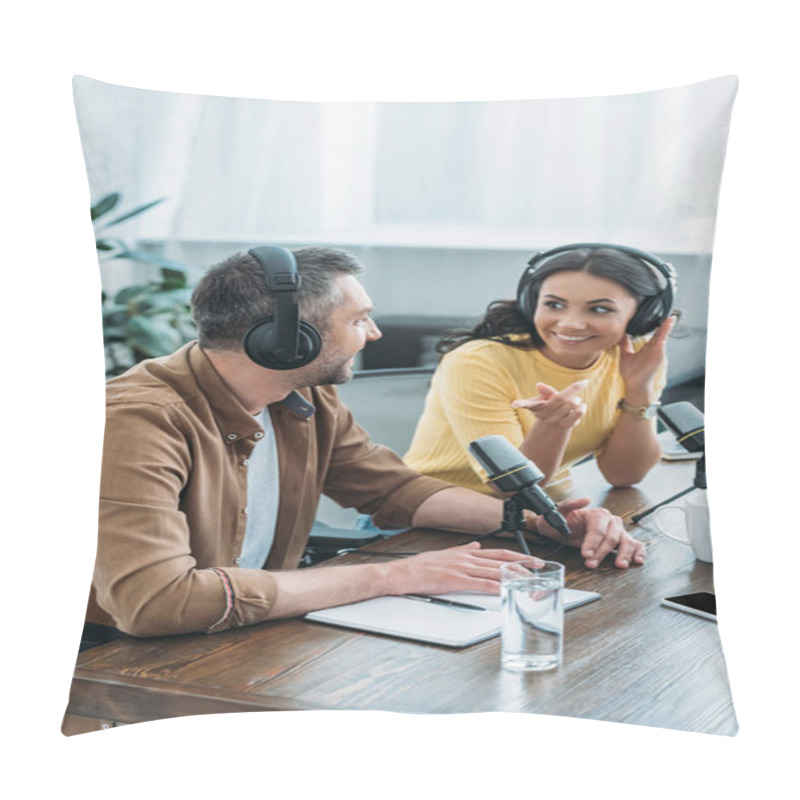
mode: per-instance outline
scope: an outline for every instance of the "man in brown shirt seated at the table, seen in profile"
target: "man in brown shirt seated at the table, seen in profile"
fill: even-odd
[[[497,593],[500,566],[522,557],[472,543],[389,563],[294,569],[323,492],[387,528],[485,533],[499,526],[502,505],[420,476],[369,441],[333,387],[380,337],[355,277],[362,268],[329,248],[294,259],[301,325],[316,329],[321,345],[309,363],[273,369],[246,352],[245,336],[275,314],[276,301],[260,259],[239,253],[193,293],[198,342],[108,382],[89,622],[135,636],[214,632],[379,595]],[[561,506],[587,565],[615,548],[618,567],[642,563],[643,546],[621,520],[587,504]]]

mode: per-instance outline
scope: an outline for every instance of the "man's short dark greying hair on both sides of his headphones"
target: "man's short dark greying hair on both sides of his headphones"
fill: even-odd
[[[363,272],[358,259],[332,247],[293,250],[301,277],[297,290],[300,316],[321,332],[331,310],[341,302],[336,279]],[[273,313],[274,295],[267,288],[263,267],[243,251],[211,267],[192,292],[192,318],[200,346],[209,350],[241,350],[244,334],[254,322]]]

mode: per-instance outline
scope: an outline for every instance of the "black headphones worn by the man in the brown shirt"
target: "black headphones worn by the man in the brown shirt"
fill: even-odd
[[[266,245],[247,251],[261,265],[275,296],[272,316],[254,322],[242,339],[245,353],[260,367],[286,370],[310,364],[322,349],[322,336],[300,319],[295,293],[302,280],[294,253]]]

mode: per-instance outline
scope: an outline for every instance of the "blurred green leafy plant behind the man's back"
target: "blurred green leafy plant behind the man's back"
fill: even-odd
[[[192,267],[171,259],[129,247],[107,230],[148,211],[165,198],[137,206],[108,220],[119,205],[118,192],[106,195],[92,206],[92,223],[101,266],[111,261],[149,264],[152,280],[131,284],[112,297],[103,292],[103,340],[106,377],[124,372],[144,358],[167,355],[197,335],[189,311]]]

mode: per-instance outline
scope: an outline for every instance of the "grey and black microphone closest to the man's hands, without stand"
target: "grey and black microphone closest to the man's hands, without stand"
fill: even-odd
[[[511,493],[523,506],[544,517],[562,536],[570,535],[567,521],[556,504],[537,484],[544,473],[504,436],[481,436],[469,450],[503,494]]]

